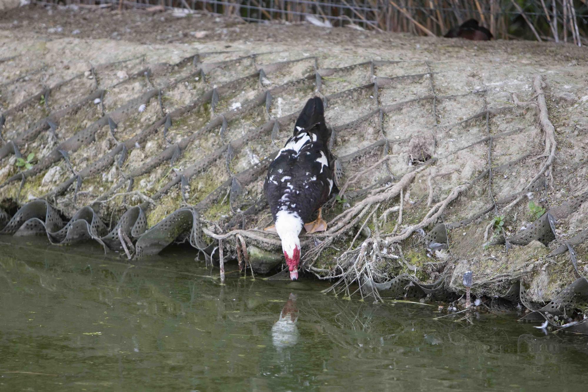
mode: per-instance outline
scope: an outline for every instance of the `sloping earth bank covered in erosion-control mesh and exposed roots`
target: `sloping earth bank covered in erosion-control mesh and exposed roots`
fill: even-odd
[[[342,193],[328,231],[301,237],[304,270],[343,295],[440,301],[472,271],[489,307],[586,331],[586,51],[239,29],[150,45],[0,31],[2,233],[128,258],[186,242],[270,271],[263,180],[319,95]]]

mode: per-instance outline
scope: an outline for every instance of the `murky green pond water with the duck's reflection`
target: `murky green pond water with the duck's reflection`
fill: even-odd
[[[223,286],[185,253],[129,265],[27,241],[0,242],[0,390],[585,390],[588,338],[515,314],[435,321],[316,281]]]

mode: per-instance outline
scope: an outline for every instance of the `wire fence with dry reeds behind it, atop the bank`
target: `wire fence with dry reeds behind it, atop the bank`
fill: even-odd
[[[310,21],[430,36],[443,35],[474,18],[496,38],[588,43],[588,0],[45,0],[42,4],[163,6],[238,16],[249,22]]]

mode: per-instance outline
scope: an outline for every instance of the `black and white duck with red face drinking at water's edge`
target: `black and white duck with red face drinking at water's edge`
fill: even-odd
[[[275,223],[265,230],[278,232],[292,280],[298,279],[302,227],[307,232],[325,231],[321,207],[332,193],[339,192],[329,138],[323,102],[319,97],[311,98],[296,120],[293,136],[269,165],[263,184]],[[305,223],[317,210],[316,220]]]

